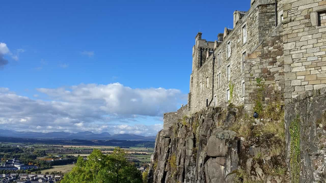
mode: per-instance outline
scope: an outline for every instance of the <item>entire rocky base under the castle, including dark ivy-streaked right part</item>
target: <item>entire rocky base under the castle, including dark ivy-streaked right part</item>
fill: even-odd
[[[326,183],[326,88],[257,119],[232,105],[178,116],[156,136],[148,183]]]

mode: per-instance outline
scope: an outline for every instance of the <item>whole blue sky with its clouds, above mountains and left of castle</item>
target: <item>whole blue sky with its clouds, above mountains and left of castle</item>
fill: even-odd
[[[249,0],[4,1],[0,124],[156,134],[162,113],[186,103],[197,32],[213,41],[233,27],[234,10],[249,8]]]

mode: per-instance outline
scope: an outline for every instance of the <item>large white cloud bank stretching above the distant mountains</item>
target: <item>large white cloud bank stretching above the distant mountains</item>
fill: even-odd
[[[0,88],[3,128],[156,135],[162,129],[158,123],[163,123],[163,113],[177,110],[185,96],[176,89],[132,89],[120,83],[80,84],[37,91],[47,100],[34,100]],[[144,125],[144,121],[157,124]]]

